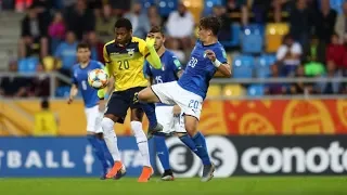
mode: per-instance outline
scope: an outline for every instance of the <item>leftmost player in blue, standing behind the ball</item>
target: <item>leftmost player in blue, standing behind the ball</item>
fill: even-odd
[[[87,139],[93,147],[99,158],[103,174],[100,179],[106,179],[107,170],[112,168],[114,160],[108,152],[105,141],[103,140],[103,131],[101,120],[105,109],[104,101],[98,98],[98,90],[88,84],[88,73],[93,69],[103,69],[103,64],[98,61],[90,60],[90,48],[86,43],[77,46],[78,64],[73,67],[73,84],[69,93],[68,104],[73,103],[74,98],[80,91],[85,102],[85,113],[87,116]]]

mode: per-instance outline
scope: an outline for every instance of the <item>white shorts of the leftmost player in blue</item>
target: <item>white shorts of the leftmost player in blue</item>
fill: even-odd
[[[85,108],[87,117],[87,131],[93,133],[102,133],[101,120],[103,113],[99,110],[99,105]]]

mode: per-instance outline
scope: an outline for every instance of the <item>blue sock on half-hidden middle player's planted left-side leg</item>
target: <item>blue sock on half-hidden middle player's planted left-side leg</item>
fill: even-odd
[[[165,143],[165,136],[154,135],[155,151],[162,162],[164,170],[170,169],[169,150]],[[194,144],[194,143],[193,143]]]

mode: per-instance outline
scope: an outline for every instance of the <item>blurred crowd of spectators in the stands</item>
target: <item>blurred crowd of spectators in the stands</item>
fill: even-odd
[[[333,78],[347,75],[347,1],[152,1],[33,0],[21,23],[18,58],[10,62],[9,72],[16,73],[18,69],[35,68],[37,73],[59,72],[69,77],[70,68],[76,63],[76,47],[80,41],[90,44],[93,60],[103,62],[103,44],[113,39],[114,24],[121,16],[131,21],[133,36],[140,38],[146,36],[151,26],[165,26],[166,47],[184,64],[196,40],[197,18],[214,14],[220,16],[223,22],[219,39],[227,50],[230,53],[241,52],[242,55],[253,60],[252,66],[255,68],[250,69],[250,75],[243,76],[244,70],[237,72],[237,61],[232,58],[233,67],[235,67],[234,74],[240,73],[239,76],[234,75],[235,78]],[[9,2],[14,1],[3,0],[3,9],[14,9],[14,4]],[[202,6],[196,8],[202,9],[192,6],[198,2],[202,3]],[[335,2],[340,4],[333,8]],[[268,49],[268,46],[264,44],[265,34],[271,35],[271,30],[267,32],[265,29],[268,24],[284,24],[288,27],[286,35],[277,38],[282,43],[279,43],[275,50]],[[234,30],[235,26],[240,26],[239,31]],[[259,43],[259,51],[247,51],[247,47],[242,46],[243,39],[241,42],[236,39],[240,39],[240,35],[248,35],[249,31],[253,34],[254,27],[261,31],[260,42],[262,43]],[[254,47],[252,42],[250,47]],[[267,70],[259,70],[256,66],[264,53],[271,56],[273,61],[269,61],[271,63],[266,67]],[[35,65],[30,66],[30,63]],[[35,79],[2,77],[0,95],[47,96],[50,93],[49,82],[46,76]],[[339,94],[346,93],[347,87],[344,82],[338,81],[269,83],[265,84],[262,90],[265,94],[300,94],[304,92]],[[57,95],[64,94],[57,93]]]

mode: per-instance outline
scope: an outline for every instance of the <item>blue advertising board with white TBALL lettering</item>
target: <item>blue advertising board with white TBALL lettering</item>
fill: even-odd
[[[118,146],[127,176],[140,176],[143,160],[136,139],[120,136]],[[86,138],[0,138],[0,177],[100,177],[101,172]]]

